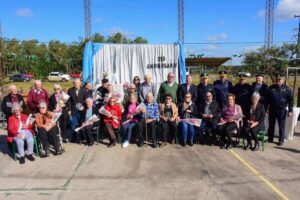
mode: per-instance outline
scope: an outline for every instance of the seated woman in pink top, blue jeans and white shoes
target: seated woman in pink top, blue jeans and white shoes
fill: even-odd
[[[122,128],[122,136],[124,138],[124,142],[122,144],[123,148],[126,148],[131,139],[131,133],[133,127],[136,126],[140,119],[140,114],[136,114],[138,111],[137,109],[137,96],[134,94],[131,94],[129,97],[129,102],[125,105],[125,119],[126,121],[123,123],[123,128]]]

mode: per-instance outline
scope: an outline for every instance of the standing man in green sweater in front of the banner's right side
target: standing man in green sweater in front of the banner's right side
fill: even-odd
[[[166,94],[171,94],[173,103],[177,104],[178,83],[175,82],[173,72],[168,73],[168,80],[163,82],[158,90],[157,103],[164,103]]]

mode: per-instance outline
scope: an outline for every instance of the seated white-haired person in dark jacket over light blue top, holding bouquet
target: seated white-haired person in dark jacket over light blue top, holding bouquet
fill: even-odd
[[[86,107],[83,110],[83,124],[84,127],[81,129],[81,133],[83,137],[86,139],[86,144],[92,146],[94,144],[93,138],[93,127],[97,126],[98,124],[95,122],[90,122],[89,119],[93,115],[99,115],[99,111],[93,107],[93,99],[87,98],[85,100]]]

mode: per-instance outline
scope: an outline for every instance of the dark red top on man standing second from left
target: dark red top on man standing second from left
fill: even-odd
[[[31,89],[27,96],[27,105],[32,112],[37,111],[40,101],[45,101],[48,105],[49,97],[47,91],[42,89],[42,91],[38,92],[35,88]]]

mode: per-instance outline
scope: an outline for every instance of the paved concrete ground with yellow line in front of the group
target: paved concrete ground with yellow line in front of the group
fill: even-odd
[[[264,152],[68,144],[61,156],[21,166],[1,135],[0,199],[300,198],[299,136],[283,147],[267,144]]]

